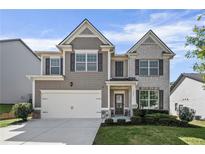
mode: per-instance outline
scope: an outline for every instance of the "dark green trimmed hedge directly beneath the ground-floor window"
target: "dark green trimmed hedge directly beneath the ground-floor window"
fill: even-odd
[[[133,109],[134,116],[144,117],[146,114],[154,114],[154,113],[169,114],[169,111],[168,110]]]

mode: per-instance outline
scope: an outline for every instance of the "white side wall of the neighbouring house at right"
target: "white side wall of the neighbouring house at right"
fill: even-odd
[[[175,103],[177,103],[194,109],[195,115],[202,116],[205,119],[204,83],[185,77],[178,84],[179,86],[170,96],[170,113],[177,115],[175,110]]]

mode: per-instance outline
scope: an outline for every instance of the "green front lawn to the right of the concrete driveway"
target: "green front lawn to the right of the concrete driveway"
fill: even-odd
[[[193,121],[201,128],[167,126],[104,126],[94,144],[205,144],[205,121]]]

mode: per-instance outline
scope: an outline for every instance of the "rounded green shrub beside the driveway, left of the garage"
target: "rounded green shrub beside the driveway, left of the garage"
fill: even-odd
[[[31,103],[17,103],[12,107],[12,111],[16,118],[27,121],[28,115],[32,112]]]

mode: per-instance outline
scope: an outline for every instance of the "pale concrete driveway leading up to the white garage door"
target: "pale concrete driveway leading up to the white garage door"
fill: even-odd
[[[0,128],[0,144],[92,144],[101,119],[41,119]]]

